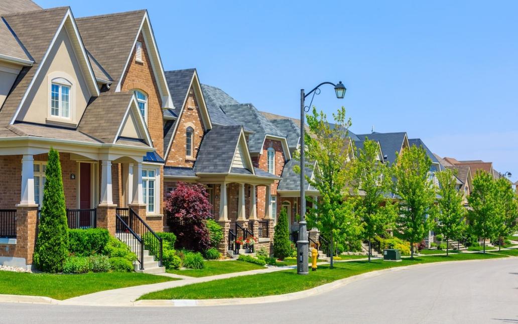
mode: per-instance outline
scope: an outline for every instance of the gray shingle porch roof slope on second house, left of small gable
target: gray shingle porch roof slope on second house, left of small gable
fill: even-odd
[[[218,126],[209,130],[199,147],[195,173],[228,173],[241,134],[241,126]]]

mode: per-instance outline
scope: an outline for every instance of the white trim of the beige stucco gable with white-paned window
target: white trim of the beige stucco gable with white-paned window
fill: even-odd
[[[87,63],[87,66],[88,66],[88,76],[90,77],[90,80],[85,80],[85,81],[87,81],[87,84],[88,84],[88,81],[92,82],[92,84],[90,84],[92,89],[90,89],[90,90],[94,90],[94,91],[92,91],[94,96],[99,96],[99,88],[97,87],[97,82],[96,82],[96,79],[94,76],[94,72],[92,70],[92,65],[90,65],[90,60],[88,59],[87,52],[84,50],[83,41],[81,39],[81,36],[79,35],[79,31],[77,29],[77,25],[76,25],[76,21],[74,20],[74,16],[72,15],[72,12],[70,11],[70,9],[68,9],[67,12],[65,13],[65,17],[63,17],[63,20],[61,21],[59,27],[57,27],[57,31],[54,34],[54,37],[52,38],[52,41],[50,42],[50,45],[47,48],[47,51],[45,52],[44,57],[41,59],[41,62],[39,62],[38,69],[36,70],[36,73],[34,74],[32,80],[31,80],[31,83],[29,83],[27,89],[25,90],[25,94],[23,95],[22,100],[20,101],[20,104],[18,105],[18,108],[16,108],[15,115],[12,117],[11,122],[10,122],[11,125],[13,123],[15,123],[16,119],[18,118],[18,114],[20,113],[20,110],[21,110],[23,104],[25,103],[25,100],[27,99],[27,95],[30,93],[32,87],[34,86],[34,82],[38,78],[41,68],[45,65],[50,51],[54,48],[57,37],[63,30],[63,27],[65,26],[65,23],[68,20],[70,21],[71,25],[73,26],[75,36],[78,39],[79,47],[81,49],[81,53],[83,54],[83,59],[85,60],[85,62]],[[81,73],[83,73],[83,77],[84,77],[84,71],[81,71]],[[85,78],[85,79],[87,79],[87,78]]]

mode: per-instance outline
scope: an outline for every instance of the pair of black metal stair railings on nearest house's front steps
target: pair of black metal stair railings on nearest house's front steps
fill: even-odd
[[[118,219],[120,219],[120,221],[116,223],[116,232],[120,234],[118,237],[128,233],[134,234],[137,241],[141,244],[139,249],[133,250],[137,254],[137,259],[140,257],[138,261],[141,263],[141,269],[143,269],[144,249],[147,249],[150,255],[154,257],[154,260],[159,262],[159,266],[162,266],[164,246],[162,237],[156,235],[133,209],[117,208],[116,215]],[[130,247],[132,246],[130,245]]]

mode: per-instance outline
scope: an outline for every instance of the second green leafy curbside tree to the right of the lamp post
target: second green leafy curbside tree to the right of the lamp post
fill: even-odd
[[[397,215],[395,206],[386,202],[392,187],[390,167],[379,159],[378,142],[366,139],[353,161],[352,173],[356,184],[356,215],[362,221],[362,238],[368,241],[369,262],[371,243],[390,229]]]

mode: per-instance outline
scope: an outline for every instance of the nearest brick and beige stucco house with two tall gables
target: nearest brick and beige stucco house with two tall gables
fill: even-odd
[[[161,231],[174,105],[147,11],[76,19],[18,0],[0,15],[0,263],[32,264],[51,147],[69,227],[116,234],[125,213]]]

